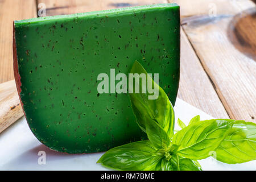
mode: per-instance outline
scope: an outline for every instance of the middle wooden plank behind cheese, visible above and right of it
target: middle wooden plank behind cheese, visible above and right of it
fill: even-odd
[[[152,3],[167,3],[167,1],[50,1],[39,0],[45,3],[47,15],[71,14],[85,11],[113,9],[124,6],[139,6]],[[216,118],[228,118],[224,106],[221,104],[209,78],[201,67],[187,37],[181,31],[181,78],[178,97],[189,104],[213,115]]]

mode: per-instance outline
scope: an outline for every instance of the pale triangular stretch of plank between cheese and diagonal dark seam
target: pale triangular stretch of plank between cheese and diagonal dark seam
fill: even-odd
[[[180,61],[178,97],[214,118],[229,118],[183,30]]]

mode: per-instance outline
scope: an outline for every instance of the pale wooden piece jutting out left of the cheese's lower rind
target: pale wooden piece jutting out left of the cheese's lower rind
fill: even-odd
[[[0,133],[22,116],[15,81],[0,84]]]

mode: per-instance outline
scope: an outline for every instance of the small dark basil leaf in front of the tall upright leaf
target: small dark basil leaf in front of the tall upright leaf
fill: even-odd
[[[168,137],[166,131],[159,126],[159,124],[153,121],[151,118],[146,120],[146,133],[148,139],[157,148],[167,148],[171,144],[171,140]]]

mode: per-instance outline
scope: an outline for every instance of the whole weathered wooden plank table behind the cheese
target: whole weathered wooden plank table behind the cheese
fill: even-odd
[[[0,0],[0,83],[14,78],[13,20],[38,16],[43,5],[49,16],[167,2],[181,8],[178,97],[215,118],[255,122],[256,6],[250,0]],[[13,81],[0,84],[0,101],[14,90]]]

